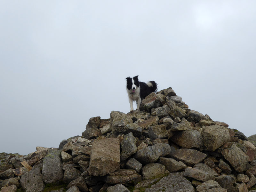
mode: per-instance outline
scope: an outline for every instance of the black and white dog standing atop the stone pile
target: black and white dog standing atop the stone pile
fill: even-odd
[[[140,82],[138,75],[131,78],[125,78],[127,81],[126,90],[129,97],[131,112],[133,112],[132,102],[136,101],[137,109],[140,110],[141,100],[145,99],[150,93],[156,92],[157,84],[155,81],[149,81],[148,83]]]

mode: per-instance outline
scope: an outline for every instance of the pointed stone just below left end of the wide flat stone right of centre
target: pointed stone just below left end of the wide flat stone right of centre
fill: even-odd
[[[163,164],[166,170],[168,170],[170,173],[185,170],[187,168],[186,164],[182,163],[181,161],[178,162],[172,158],[159,157],[157,162]]]

